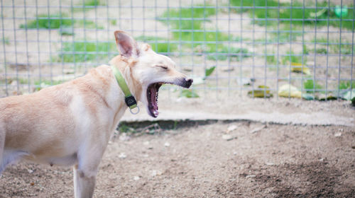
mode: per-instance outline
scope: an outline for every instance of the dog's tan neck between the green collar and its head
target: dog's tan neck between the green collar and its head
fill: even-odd
[[[132,95],[136,98],[137,102],[141,99],[142,93],[142,86],[139,81],[134,78],[131,69],[133,68],[134,64],[136,64],[137,60],[133,58],[125,58],[121,55],[114,57],[111,59],[110,64],[116,66],[121,74],[126,79],[127,86],[129,86],[129,91],[131,91]]]

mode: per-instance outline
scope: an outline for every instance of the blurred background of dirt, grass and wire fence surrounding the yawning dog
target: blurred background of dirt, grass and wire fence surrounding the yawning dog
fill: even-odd
[[[0,98],[108,64],[124,30],[194,83],[160,88],[156,119],[126,111],[95,196],[355,197],[354,4],[0,0]],[[2,174],[0,197],[73,194],[70,168]]]

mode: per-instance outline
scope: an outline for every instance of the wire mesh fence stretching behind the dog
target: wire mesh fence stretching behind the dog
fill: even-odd
[[[353,98],[354,3],[1,0],[0,97],[107,64],[125,30],[195,79],[186,97]]]

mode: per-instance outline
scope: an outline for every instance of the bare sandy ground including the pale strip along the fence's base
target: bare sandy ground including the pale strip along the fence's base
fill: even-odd
[[[134,132],[113,134],[95,197],[355,196],[349,102],[166,96],[158,120],[144,107],[124,116]],[[72,197],[72,185],[70,168],[21,162],[0,176],[0,197]]]

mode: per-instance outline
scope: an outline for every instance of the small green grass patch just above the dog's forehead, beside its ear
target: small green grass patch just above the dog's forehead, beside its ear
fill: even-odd
[[[163,37],[140,36],[136,37],[136,40],[148,42],[151,45],[152,50],[158,53],[174,52],[175,50],[178,50],[178,44],[169,43],[167,42],[167,39]]]

